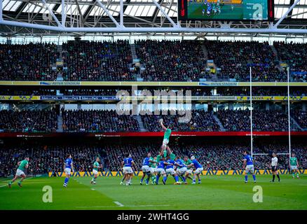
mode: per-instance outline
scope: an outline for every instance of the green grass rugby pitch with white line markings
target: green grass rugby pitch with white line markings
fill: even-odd
[[[282,175],[281,182],[270,183],[271,176],[257,176],[257,183],[244,183],[244,176],[203,176],[202,183],[175,186],[140,186],[140,177],[132,186],[120,186],[120,177],[99,177],[96,185],[90,177],[72,177],[68,188],[64,178],[26,179],[22,188],[12,188],[9,179],[0,179],[0,209],[307,209],[307,178]],[[252,176],[249,177],[252,180]],[[53,202],[43,202],[43,186],[53,189]],[[253,187],[263,189],[263,202],[253,202]]]

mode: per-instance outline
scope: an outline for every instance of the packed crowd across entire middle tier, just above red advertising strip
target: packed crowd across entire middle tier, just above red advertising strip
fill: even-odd
[[[116,110],[65,110],[62,109],[63,132],[139,132],[140,116],[144,130],[161,132],[158,120],[163,118],[165,125],[174,131],[220,132],[250,131],[249,109],[219,109],[217,112],[203,109],[192,111],[142,111],[146,113],[132,116],[131,111]],[[291,110],[292,131],[307,128],[306,111]],[[287,131],[288,116],[281,110],[254,109],[252,113],[254,131]],[[219,123],[220,121],[220,123]],[[299,125],[299,126],[298,126]],[[0,132],[57,132],[57,112],[48,110],[2,110],[0,111]]]

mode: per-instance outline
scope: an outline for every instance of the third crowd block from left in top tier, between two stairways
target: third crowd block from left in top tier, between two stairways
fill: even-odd
[[[136,41],[137,56],[149,81],[198,81],[210,78],[200,41]]]

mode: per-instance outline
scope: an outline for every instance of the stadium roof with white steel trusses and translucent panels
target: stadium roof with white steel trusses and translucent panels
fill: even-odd
[[[307,0],[274,0],[275,22],[273,23],[267,21],[177,21],[177,1],[123,0],[123,14],[121,15],[121,0],[2,0],[3,20],[1,21],[0,13],[0,24],[2,23],[0,34],[13,36],[16,34],[83,35],[142,32],[151,35],[158,33],[187,35],[193,32],[201,36],[223,34],[224,32],[219,29],[233,28],[240,30],[235,32],[236,35],[254,35],[265,33],[265,31],[256,32],[251,29],[272,28],[294,3],[297,3],[296,6],[290,8],[285,19],[275,28],[301,30],[297,32],[289,30],[289,33],[283,31],[282,34],[297,33],[306,36],[307,33]],[[64,13],[62,13],[63,10]],[[178,28],[177,26],[184,29],[175,29]],[[62,29],[63,27],[65,29]],[[68,31],[66,28],[74,29]],[[191,31],[191,28],[195,28],[196,31]],[[209,28],[213,29],[206,30]],[[272,33],[276,32],[272,31]]]

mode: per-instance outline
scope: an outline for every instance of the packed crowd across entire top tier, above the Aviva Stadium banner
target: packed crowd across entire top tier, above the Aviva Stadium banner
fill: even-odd
[[[29,43],[0,45],[0,80],[56,80],[57,59],[64,60],[64,80],[199,81],[200,78],[235,78],[253,81],[285,81],[280,62],[291,67],[292,81],[307,80],[306,43],[257,41],[135,41],[144,71],[132,62],[128,41],[69,41],[62,54],[57,45]],[[206,57],[207,54],[207,57]],[[210,69],[207,59],[216,67]],[[219,69],[221,69],[219,71]]]

